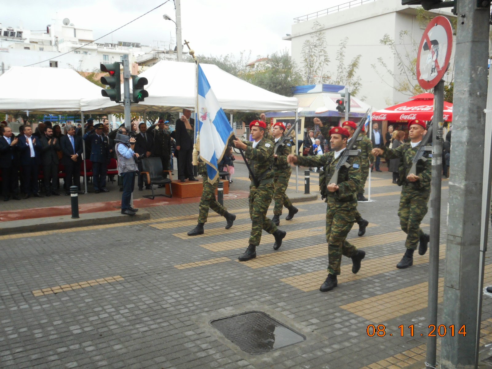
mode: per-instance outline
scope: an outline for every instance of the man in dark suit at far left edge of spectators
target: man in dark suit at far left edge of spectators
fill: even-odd
[[[3,127],[0,137],[0,168],[2,175],[3,201],[12,198],[20,200],[19,197],[19,157],[17,144],[19,139],[14,137],[10,127]]]

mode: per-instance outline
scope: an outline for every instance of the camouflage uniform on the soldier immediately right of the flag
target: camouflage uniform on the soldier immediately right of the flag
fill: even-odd
[[[277,226],[271,219],[267,218],[267,211],[274,195],[274,144],[273,142],[261,139],[253,148],[252,141],[243,141],[247,145],[245,150],[246,159],[249,167],[259,181],[258,187],[253,182],[251,175],[249,179],[249,216],[251,217],[251,234],[249,245],[258,246],[261,240],[261,231],[264,229],[272,234],[277,231]]]

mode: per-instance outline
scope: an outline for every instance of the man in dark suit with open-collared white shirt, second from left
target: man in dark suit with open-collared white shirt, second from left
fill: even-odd
[[[31,196],[43,197],[39,194],[38,174],[41,163],[41,143],[32,136],[30,125],[24,126],[24,134],[19,137],[19,154],[22,166],[22,189],[26,199]]]

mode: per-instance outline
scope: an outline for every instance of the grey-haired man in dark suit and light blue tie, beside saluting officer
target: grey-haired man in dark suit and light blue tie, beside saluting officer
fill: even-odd
[[[66,126],[66,135],[60,139],[62,147],[62,164],[65,167],[66,192],[70,194],[70,186],[75,185],[79,188],[78,193],[83,194],[80,190],[80,163],[82,162],[82,137],[75,135],[73,125]]]

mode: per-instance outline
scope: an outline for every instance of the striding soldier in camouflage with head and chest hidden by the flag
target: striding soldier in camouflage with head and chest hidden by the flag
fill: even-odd
[[[219,178],[215,179],[214,183],[209,182],[207,175],[207,165],[204,161],[198,162],[198,174],[203,177],[203,192],[200,199],[200,215],[198,215],[198,225],[188,232],[188,236],[203,235],[203,225],[207,221],[209,208],[215,213],[222,215],[227,220],[225,229],[232,227],[232,223],[236,220],[236,215],[230,214],[227,210],[215,200],[215,189],[217,188]]]

